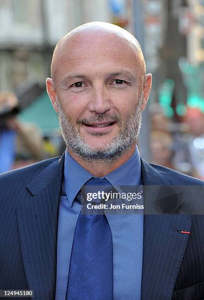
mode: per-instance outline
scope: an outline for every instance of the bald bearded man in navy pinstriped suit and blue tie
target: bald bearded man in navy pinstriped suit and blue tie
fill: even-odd
[[[136,39],[111,24],[79,26],[57,44],[51,77],[67,150],[0,176],[0,289],[32,289],[40,300],[203,299],[203,216],[176,214],[192,194],[172,186],[204,184],[139,157],[152,76]],[[99,213],[97,196],[87,215],[83,189],[104,183],[155,187],[141,200],[145,214]]]

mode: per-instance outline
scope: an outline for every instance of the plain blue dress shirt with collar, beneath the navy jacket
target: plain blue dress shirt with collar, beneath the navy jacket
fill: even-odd
[[[81,187],[94,177],[66,151],[64,178],[59,202],[57,275],[55,300],[66,297],[70,257],[81,204],[75,200]],[[137,186],[141,181],[138,148],[113,172],[105,175],[118,192],[119,186]],[[139,204],[143,200],[140,200]],[[129,204],[129,203],[128,203]],[[143,259],[143,214],[106,214],[113,239],[114,300],[140,300]]]

